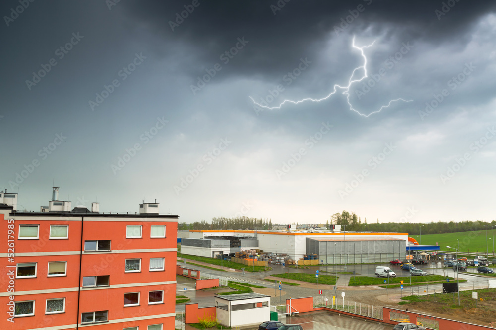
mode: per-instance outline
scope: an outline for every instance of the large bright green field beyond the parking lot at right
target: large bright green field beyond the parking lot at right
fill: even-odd
[[[493,255],[493,233],[488,229],[488,251],[490,258]],[[409,235],[417,240],[420,244],[420,235]],[[491,239],[490,239],[491,238]],[[458,242],[457,242],[458,239]],[[445,233],[445,234],[422,234],[422,245],[435,245],[439,243],[441,250],[450,250],[453,253],[455,250],[448,249],[446,246],[458,248],[460,244],[460,251],[462,252],[480,252],[486,254],[486,231],[471,231],[471,232],[458,232],[458,233]],[[496,245],[495,245],[496,248]],[[460,254],[460,253],[458,253]],[[496,256],[496,254],[495,254]]]

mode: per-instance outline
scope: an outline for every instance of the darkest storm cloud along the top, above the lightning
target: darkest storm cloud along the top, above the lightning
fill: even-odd
[[[376,34],[394,33],[400,40],[462,42],[468,27],[496,7],[496,3],[482,0],[193,2],[197,7],[192,1],[125,4],[130,16],[141,19],[164,40],[193,47],[190,59],[196,65],[185,63],[191,75],[196,75],[201,65],[219,62],[220,55],[235,47],[239,37],[249,43],[238,55],[243,60],[230,64],[231,74],[279,74],[303,54],[315,57],[327,40],[368,28]],[[181,17],[182,12],[186,18]]]

